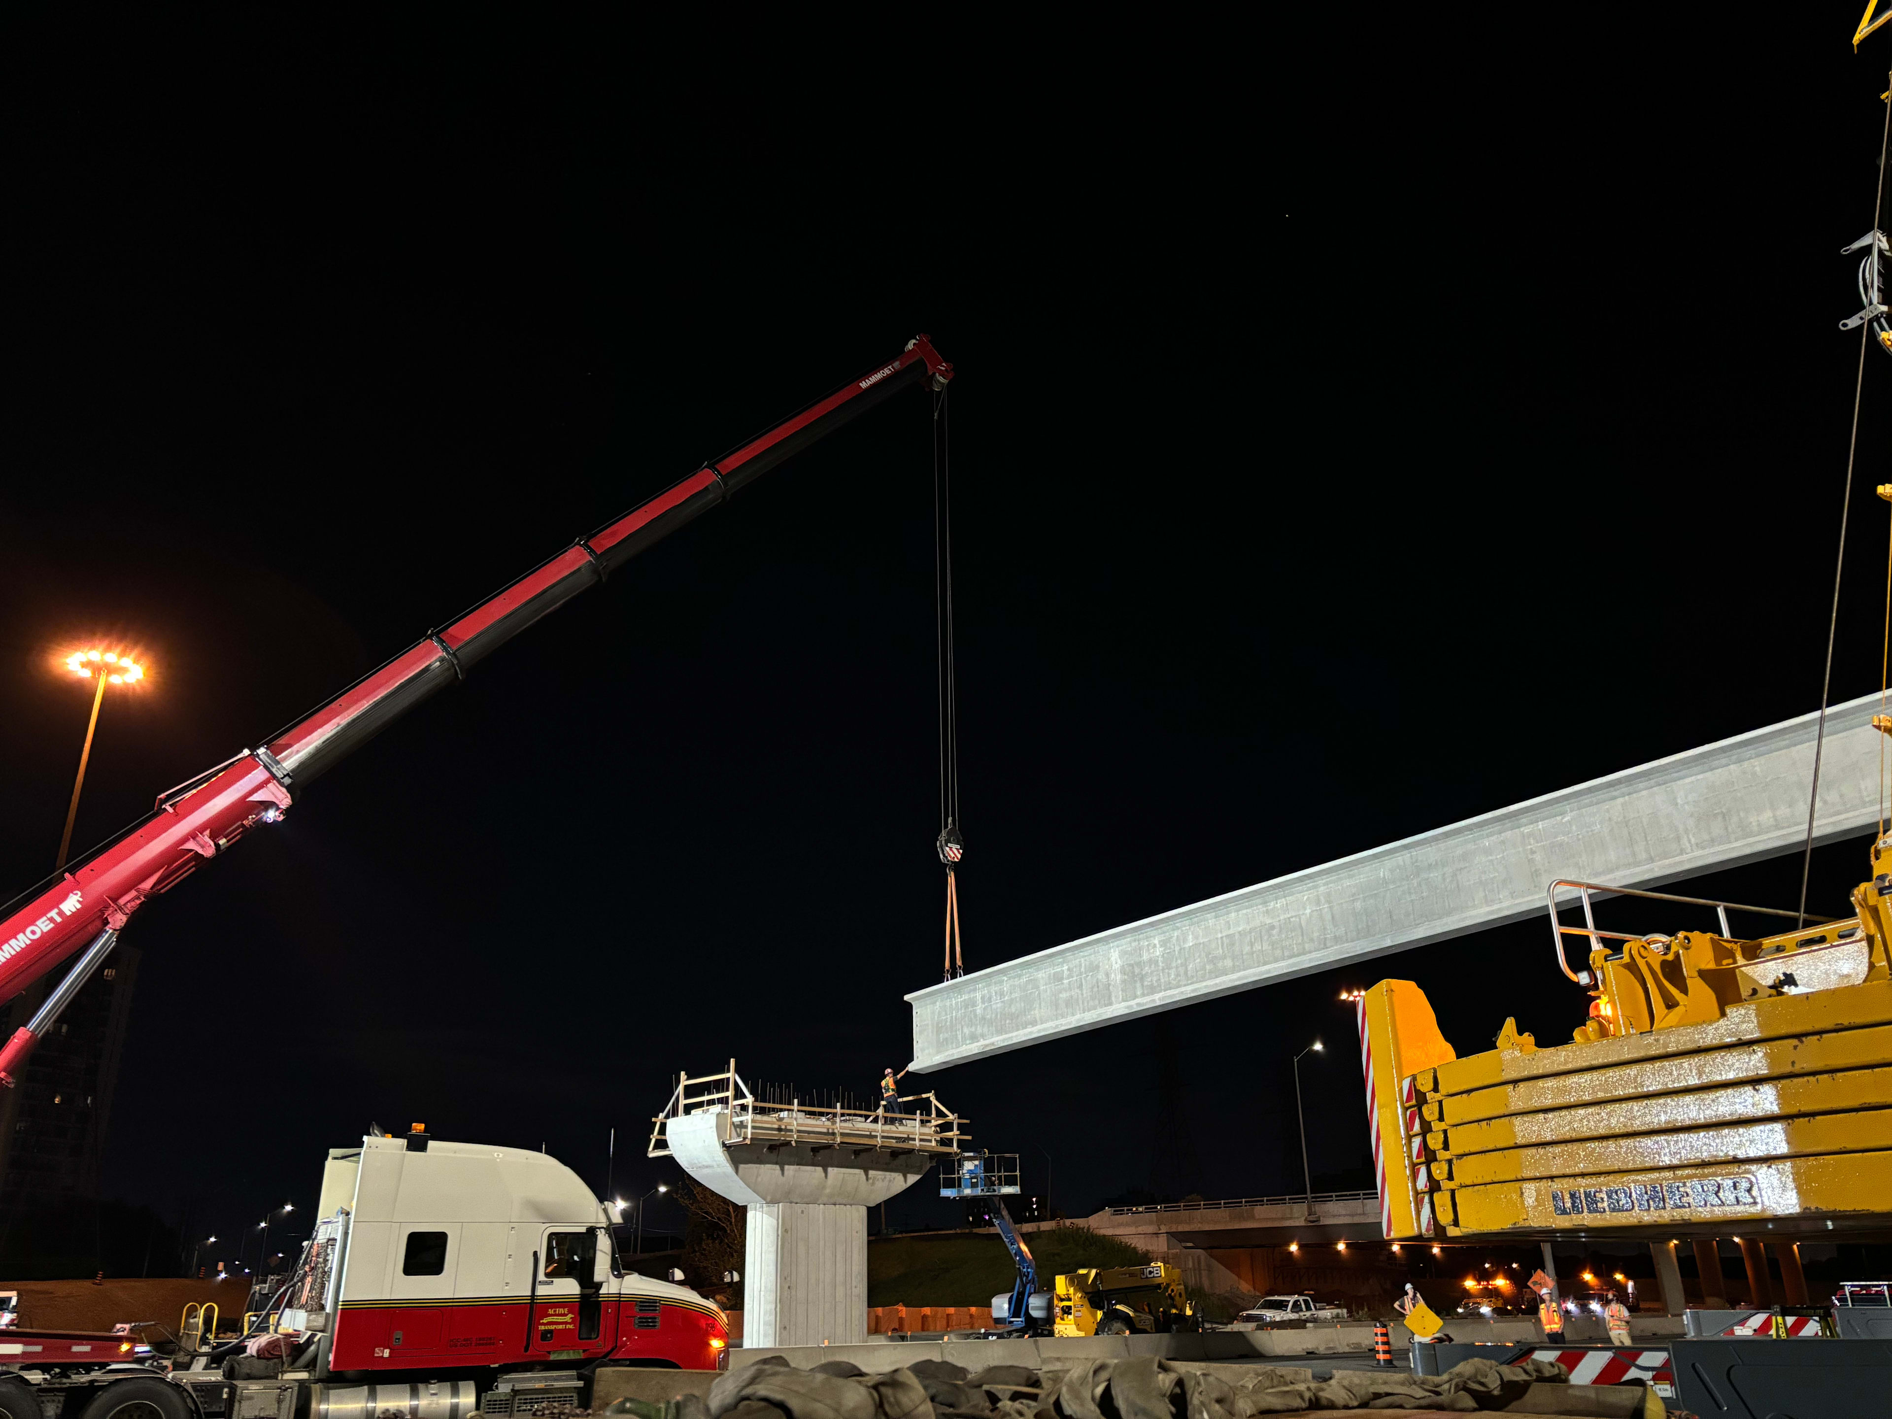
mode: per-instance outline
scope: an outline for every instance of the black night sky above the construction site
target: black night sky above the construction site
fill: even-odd
[[[1886,87],[1852,11],[863,21],[823,59],[734,15],[431,15],[95,21],[30,64],[6,895],[85,728],[57,655],[151,664],[91,846],[918,331],[959,371],[971,969],[1818,704]],[[1871,352],[1835,700],[1879,675],[1888,380]],[[630,1192],[679,1069],[868,1094],[938,978],[933,626],[906,394],[138,914],[108,1194],[229,1235],[371,1120],[598,1188],[617,1128]],[[1822,850],[1813,910],[1864,876]],[[1701,885],[1792,904],[1797,863]],[[1270,1194],[1340,988],[1421,982],[1461,1052],[1585,1005],[1538,921],[1383,967],[923,1086],[1073,1215]],[[1317,1186],[1366,1184],[1355,1052],[1304,1082]],[[893,1222],[950,1217],[923,1194]]]

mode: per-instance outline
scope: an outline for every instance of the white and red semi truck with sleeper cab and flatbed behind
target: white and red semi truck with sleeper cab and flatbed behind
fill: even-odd
[[[242,1341],[166,1362],[9,1330],[0,1419],[556,1419],[621,1398],[626,1368],[728,1355],[723,1311],[626,1271],[613,1209],[543,1152],[375,1133],[329,1150],[318,1217]]]

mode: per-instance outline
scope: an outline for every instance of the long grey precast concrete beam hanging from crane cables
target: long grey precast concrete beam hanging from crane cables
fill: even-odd
[[[1879,819],[1877,708],[1866,696],[1828,711],[1814,842]],[[1788,719],[918,990],[906,997],[912,1069],[1542,916],[1559,878],[1654,887],[1794,851],[1807,834],[1816,721]],[[1546,923],[1544,971],[1555,971],[1550,948]]]

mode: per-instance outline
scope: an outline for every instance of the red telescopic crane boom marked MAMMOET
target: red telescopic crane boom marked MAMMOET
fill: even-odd
[[[125,921],[146,901],[178,885],[255,823],[276,821],[310,780],[435,691],[465,679],[467,670],[547,611],[602,583],[645,547],[727,501],[776,464],[887,395],[910,384],[938,390],[950,378],[952,365],[940,359],[925,335],[910,341],[885,365],[706,464],[588,537],[579,537],[558,556],[541,562],[452,624],[428,634],[261,747],[246,749],[170,789],[159,797],[148,819],[49,878],[17,912],[0,921],[0,1001],[26,990],[102,933],[123,931]],[[110,950],[110,938],[104,950]],[[87,952],[76,971],[89,972],[104,950]],[[70,997],[81,984],[83,980],[61,982],[59,997]],[[42,1010],[0,1048],[0,1082],[13,1084],[49,1024],[49,1012]]]

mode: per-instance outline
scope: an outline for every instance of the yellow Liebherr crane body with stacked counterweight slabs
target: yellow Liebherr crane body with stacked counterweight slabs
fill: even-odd
[[[1608,944],[1593,927],[1557,927],[1591,938],[1578,978],[1593,1005],[1568,1044],[1538,1048],[1506,1022],[1497,1048],[1459,1058],[1415,984],[1364,991],[1385,1235],[1888,1226],[1892,912],[1881,893],[1892,876],[1881,853],[1892,867],[1892,838],[1847,921]]]

